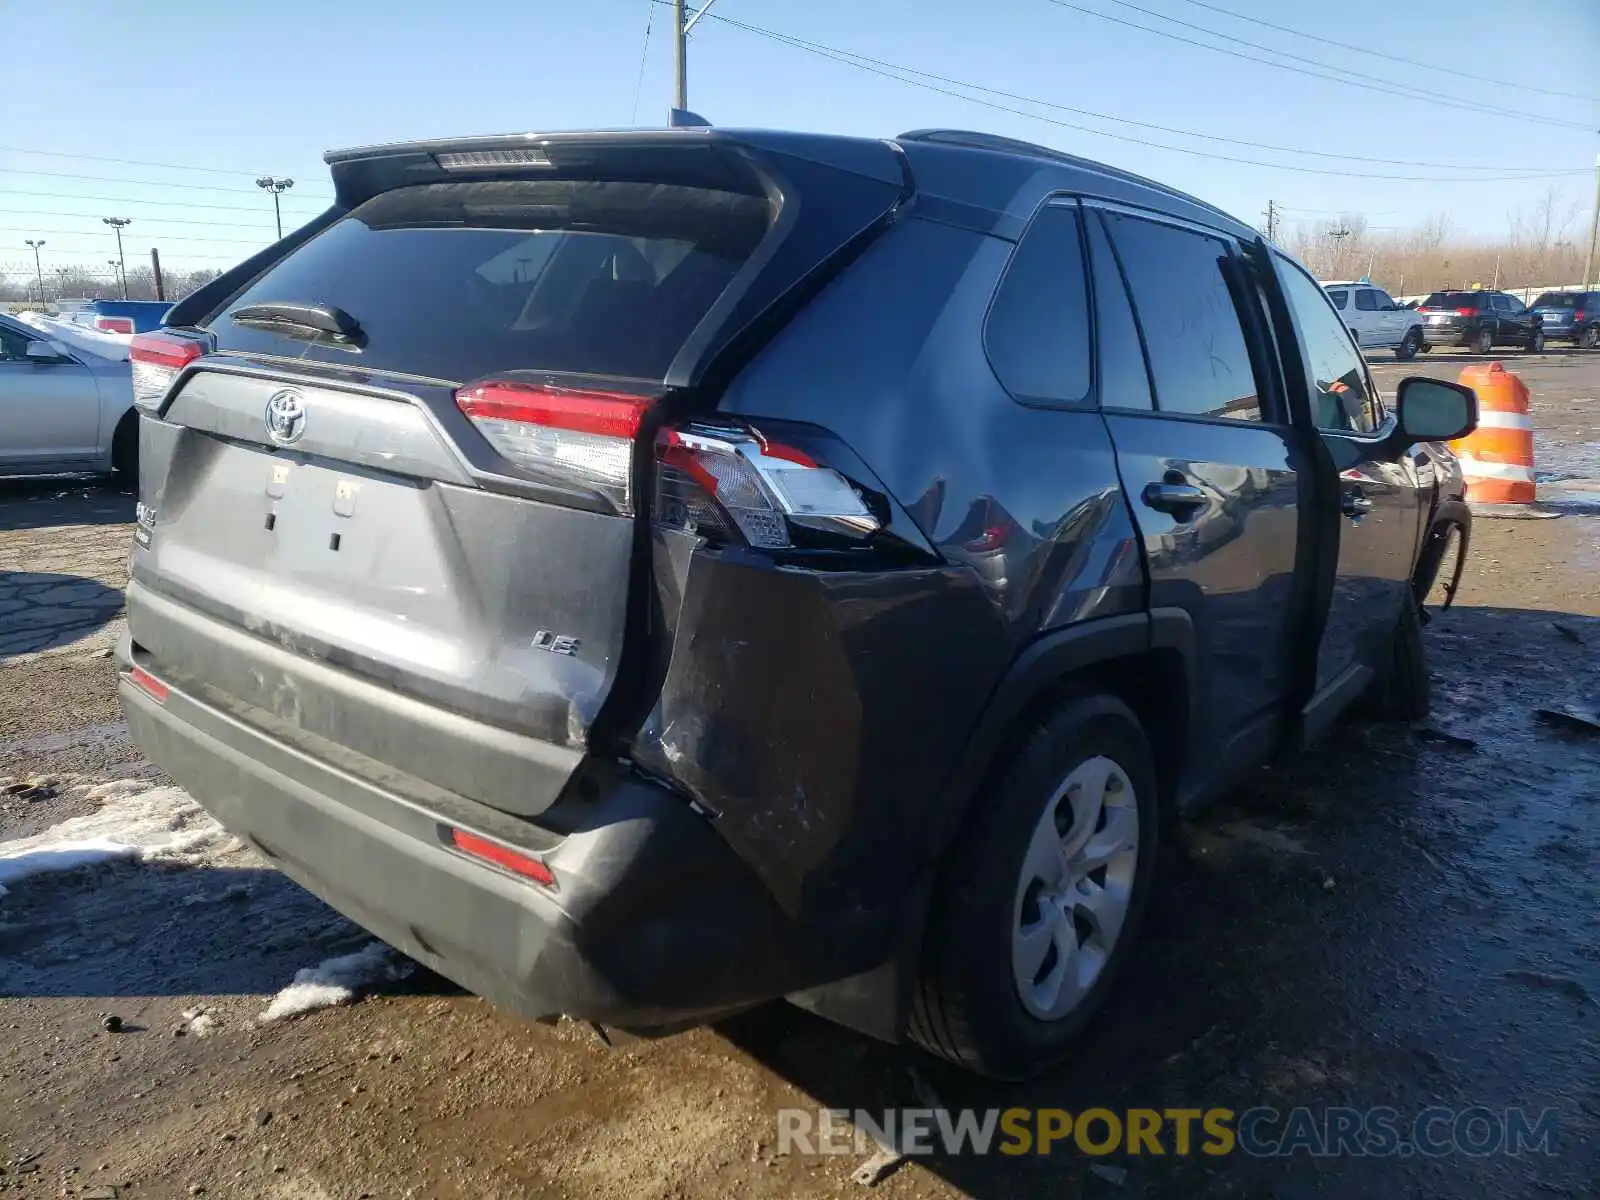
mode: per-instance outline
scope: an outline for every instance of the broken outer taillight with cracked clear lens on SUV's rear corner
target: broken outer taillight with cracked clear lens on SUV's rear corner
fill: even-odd
[[[654,514],[672,528],[770,550],[795,546],[802,530],[861,541],[878,528],[850,480],[750,429],[662,430],[656,462]]]

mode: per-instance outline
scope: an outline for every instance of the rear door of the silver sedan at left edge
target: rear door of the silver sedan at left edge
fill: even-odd
[[[91,459],[99,450],[99,389],[70,355],[29,358],[46,334],[0,320],[0,462],[34,467]]]

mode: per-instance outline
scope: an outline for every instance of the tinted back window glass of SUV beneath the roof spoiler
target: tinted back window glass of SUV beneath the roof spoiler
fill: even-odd
[[[600,181],[402,187],[235,296],[227,349],[454,382],[546,370],[661,379],[771,226],[762,197]],[[326,304],[358,349],[251,328],[246,304]]]

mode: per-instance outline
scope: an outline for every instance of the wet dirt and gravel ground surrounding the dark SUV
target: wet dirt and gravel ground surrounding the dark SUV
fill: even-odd
[[[1536,710],[1600,701],[1600,470],[1582,470],[1600,355],[1507,365],[1534,389],[1566,515],[1478,523],[1458,606],[1427,630],[1424,728],[1341,725],[1171,838],[1139,952],[1067,1069],[981,1083],[784,1005],[606,1046],[421,973],[262,1024],[296,971],[368,939],[224,845],[0,899],[0,1194],[842,1195],[861,1157],[776,1155],[776,1110],[931,1088],[950,1107],[1550,1107],[1557,1154],[926,1158],[878,1194],[1595,1195],[1600,738]],[[115,803],[93,784],[163,782],[104,656],[131,507],[0,483],[0,778],[53,778],[0,797],[0,850]]]

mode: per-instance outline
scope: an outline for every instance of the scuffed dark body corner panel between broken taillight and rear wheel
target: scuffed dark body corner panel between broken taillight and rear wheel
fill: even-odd
[[[888,910],[1006,662],[962,568],[808,571],[701,549],[634,757],[682,786],[792,914]]]

